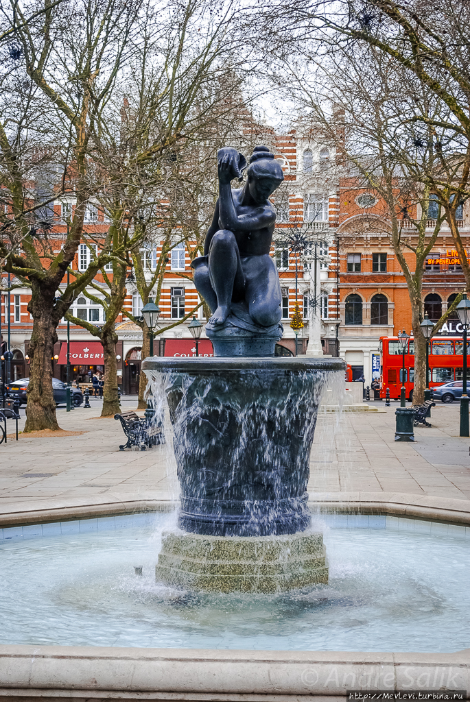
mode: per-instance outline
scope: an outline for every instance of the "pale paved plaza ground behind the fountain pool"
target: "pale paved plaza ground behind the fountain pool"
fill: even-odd
[[[380,406],[380,404],[377,404]],[[322,414],[311,454],[308,490],[320,493],[400,493],[470,500],[469,439],[458,437],[459,406],[439,404],[432,428],[417,428],[415,444],[393,441],[395,409],[383,413]],[[135,409],[136,400],[123,402]],[[171,499],[178,484],[172,439],[151,451],[119,451],[120,423],[101,419],[100,402],[66,413],[60,427],[78,436],[32,438],[0,444],[0,512],[13,503]],[[20,421],[20,430],[24,426]],[[13,432],[13,423],[9,424]],[[41,475],[42,474],[42,475]]]

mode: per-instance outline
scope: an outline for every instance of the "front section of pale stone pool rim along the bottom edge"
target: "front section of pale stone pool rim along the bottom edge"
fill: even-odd
[[[452,654],[0,645],[0,698],[298,702],[356,689],[470,690],[470,649]]]

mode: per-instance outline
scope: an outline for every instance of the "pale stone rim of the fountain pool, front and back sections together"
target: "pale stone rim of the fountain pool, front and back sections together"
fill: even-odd
[[[177,504],[155,494],[54,502],[5,505],[0,527],[169,512]],[[311,494],[309,504],[320,515],[347,512],[470,526],[466,500],[356,492]],[[0,645],[0,700],[9,702],[342,702],[353,680],[355,689],[364,691],[377,689],[374,680],[380,689],[403,691],[412,689],[410,680],[430,690],[443,680],[444,687],[465,689],[468,698],[470,649],[434,654]]]

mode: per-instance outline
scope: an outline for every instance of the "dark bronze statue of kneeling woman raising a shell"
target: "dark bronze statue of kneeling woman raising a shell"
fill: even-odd
[[[218,200],[204,256],[191,264],[195,286],[212,312],[209,337],[227,324],[263,333],[282,317],[278,270],[270,257],[276,216],[269,201],[284,180],[282,168],[266,146],[257,146],[246,183],[233,190],[230,183],[242,180],[246,161],[228,147],[217,156]]]

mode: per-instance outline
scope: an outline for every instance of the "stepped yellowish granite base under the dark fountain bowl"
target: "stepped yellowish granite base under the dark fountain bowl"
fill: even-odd
[[[286,592],[328,582],[322,534],[202,536],[164,531],[157,581],[205,592]]]

